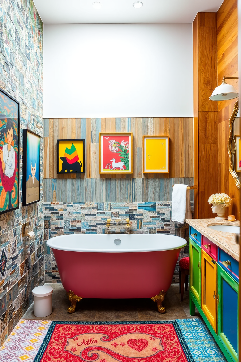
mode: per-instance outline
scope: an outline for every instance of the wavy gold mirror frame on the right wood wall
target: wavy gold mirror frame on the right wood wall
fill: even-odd
[[[236,151],[236,142],[234,139],[234,121],[238,114],[238,101],[234,104],[234,109],[231,117],[229,118],[229,139],[228,139],[228,155],[229,155],[229,172],[234,178],[235,185],[237,188],[240,188],[240,180],[238,178],[238,175],[235,171],[235,165],[234,165],[234,155]]]

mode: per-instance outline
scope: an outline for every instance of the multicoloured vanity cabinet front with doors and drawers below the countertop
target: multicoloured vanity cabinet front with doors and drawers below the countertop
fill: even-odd
[[[197,308],[227,361],[238,362],[238,261],[190,229],[190,314]]]

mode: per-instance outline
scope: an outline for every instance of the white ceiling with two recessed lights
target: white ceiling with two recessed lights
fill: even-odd
[[[44,24],[192,23],[198,12],[217,12],[223,0],[33,0]],[[101,9],[92,3],[102,3]]]

